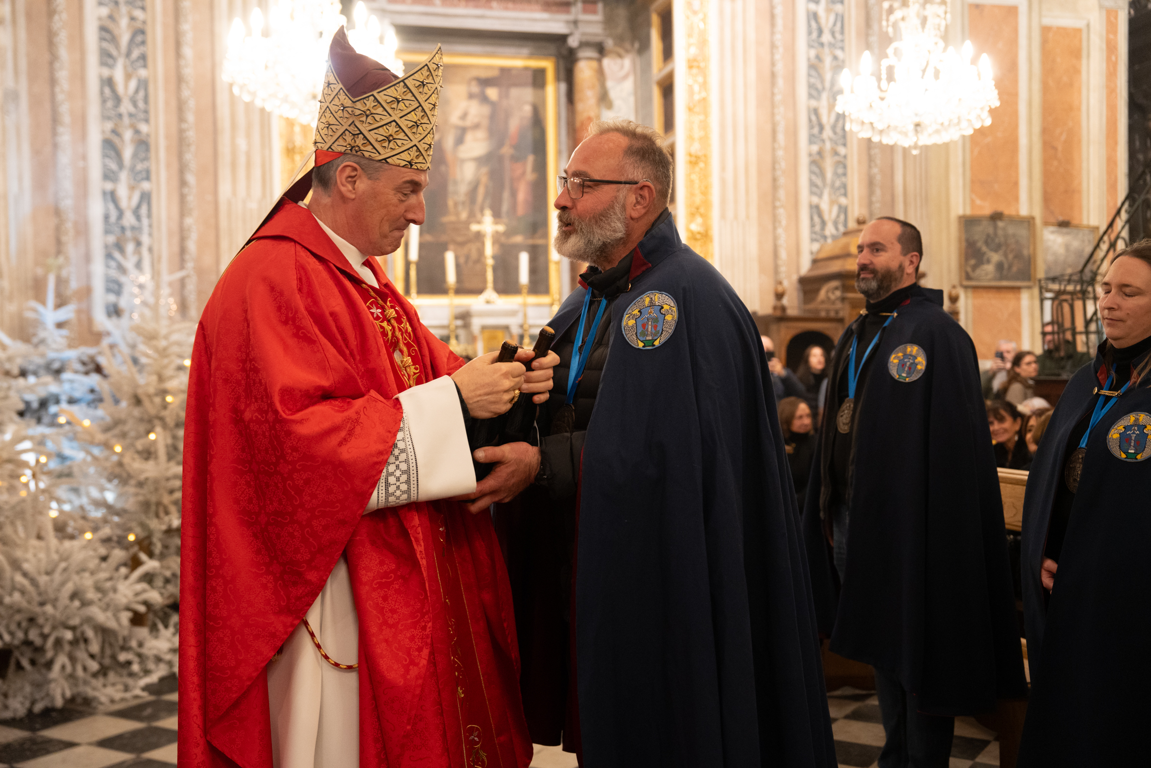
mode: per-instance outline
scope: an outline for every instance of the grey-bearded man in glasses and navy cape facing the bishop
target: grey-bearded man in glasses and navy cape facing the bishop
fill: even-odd
[[[541,446],[475,451],[475,509],[534,480],[497,510],[532,738],[594,768],[834,766],[759,330],[680,241],[656,131],[594,124],[557,189],[556,249],[590,266]]]

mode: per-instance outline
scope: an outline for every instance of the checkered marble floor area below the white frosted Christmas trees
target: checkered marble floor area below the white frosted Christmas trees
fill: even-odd
[[[168,768],[176,762],[176,678],[105,709],[66,706],[0,721],[0,766]]]

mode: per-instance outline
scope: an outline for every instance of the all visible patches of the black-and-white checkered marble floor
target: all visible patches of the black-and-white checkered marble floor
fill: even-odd
[[[0,721],[0,768],[166,768],[176,762],[176,678],[150,698],[106,710],[64,707]],[[871,691],[828,695],[841,768],[875,768],[883,747],[879,702]],[[999,742],[970,717],[955,720],[950,768],[999,765]],[[532,768],[576,768],[576,755],[535,745]]]

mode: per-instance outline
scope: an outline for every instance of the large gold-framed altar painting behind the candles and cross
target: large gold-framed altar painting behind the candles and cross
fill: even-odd
[[[399,56],[416,66],[427,53]],[[524,276],[529,304],[557,304],[556,60],[445,53],[443,64],[426,219],[409,228],[389,274],[417,304],[447,302],[452,267],[457,304],[486,291],[518,303]]]

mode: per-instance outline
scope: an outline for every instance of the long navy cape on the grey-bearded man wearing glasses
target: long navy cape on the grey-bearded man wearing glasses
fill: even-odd
[[[669,218],[612,306],[584,448],[577,682],[584,765],[836,766],[807,564],[760,333]],[[628,307],[671,296],[638,349]],[[579,319],[567,297],[556,335]]]

